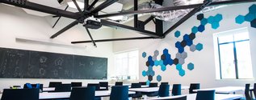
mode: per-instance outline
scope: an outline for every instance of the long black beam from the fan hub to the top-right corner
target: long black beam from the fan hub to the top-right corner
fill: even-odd
[[[224,2],[212,2],[209,6],[229,5],[229,4],[244,3],[244,2],[256,2],[256,0],[229,0]],[[135,11],[114,13],[114,14],[102,14],[102,15],[95,15],[95,18],[107,18],[107,17],[113,17],[113,16],[127,15],[127,14],[145,14],[145,13],[153,13],[153,12],[161,12],[161,11],[169,11],[169,10],[193,9],[193,8],[198,8],[203,4],[204,3],[187,5],[187,6],[169,6],[169,7],[162,7],[162,8],[157,8],[153,10],[135,10]]]

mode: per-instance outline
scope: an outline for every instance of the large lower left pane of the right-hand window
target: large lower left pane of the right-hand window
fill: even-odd
[[[236,78],[233,43],[220,45],[220,66],[222,78]]]

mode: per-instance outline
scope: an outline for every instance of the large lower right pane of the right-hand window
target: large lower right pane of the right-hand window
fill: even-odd
[[[253,78],[250,57],[250,42],[237,42],[237,67],[239,78]]]

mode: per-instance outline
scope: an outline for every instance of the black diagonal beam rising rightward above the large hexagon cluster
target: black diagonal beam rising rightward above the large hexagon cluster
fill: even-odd
[[[206,6],[210,5],[211,3],[212,3],[212,0],[204,0],[204,4],[202,4],[198,8],[195,8],[195,9],[191,10],[191,12],[189,12],[186,16],[184,16],[178,22],[176,22],[174,24],[174,26],[171,26],[170,29],[166,30],[166,32],[163,34],[164,37],[166,37],[167,34],[170,34],[170,32],[172,30],[176,29],[178,26],[183,24],[183,22],[186,22],[188,18],[191,18],[191,16],[193,16],[194,14],[199,12],[200,10],[203,10]]]

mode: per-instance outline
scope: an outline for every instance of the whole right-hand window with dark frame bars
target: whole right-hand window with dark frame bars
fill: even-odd
[[[253,78],[247,29],[216,34],[217,74],[220,79]]]

